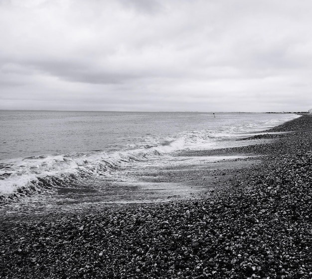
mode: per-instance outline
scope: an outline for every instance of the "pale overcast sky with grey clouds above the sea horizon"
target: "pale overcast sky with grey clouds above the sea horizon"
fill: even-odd
[[[0,109],[307,111],[311,0],[0,0]]]

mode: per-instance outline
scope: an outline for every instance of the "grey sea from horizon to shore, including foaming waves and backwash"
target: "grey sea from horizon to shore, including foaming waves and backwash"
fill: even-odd
[[[0,197],[3,201],[54,194],[72,202],[157,199],[151,192],[177,186],[159,181],[151,186],[151,173],[156,177],[157,170],[224,159],[184,158],[176,156],[179,152],[245,144],[235,140],[296,117],[269,113],[220,112],[214,117],[198,112],[3,110]],[[149,175],[147,183],[144,178]]]

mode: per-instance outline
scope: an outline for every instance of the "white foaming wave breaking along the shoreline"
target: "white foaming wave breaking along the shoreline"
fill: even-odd
[[[289,118],[284,116],[281,119],[243,122],[237,126],[218,127],[214,130],[188,131],[166,138],[149,138],[145,145],[110,154],[97,150],[1,161],[0,201],[41,192],[43,189],[79,184],[90,177],[108,176],[130,162],[159,157],[178,150],[214,148],[217,141],[222,142],[230,136],[265,130],[296,117],[297,115],[290,115]]]

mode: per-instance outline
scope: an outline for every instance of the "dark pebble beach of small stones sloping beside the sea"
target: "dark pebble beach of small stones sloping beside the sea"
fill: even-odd
[[[312,117],[272,131],[214,196],[2,219],[0,278],[312,278]]]

